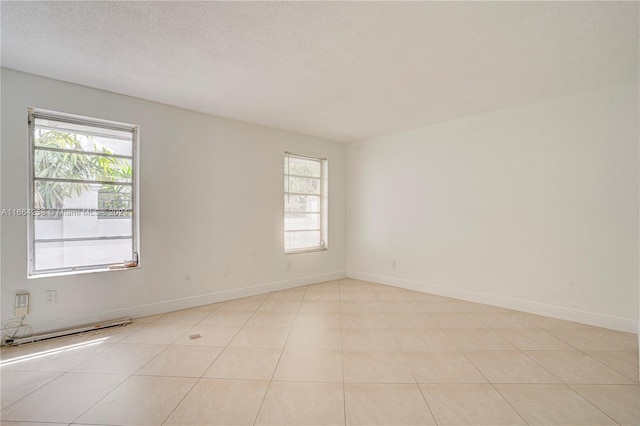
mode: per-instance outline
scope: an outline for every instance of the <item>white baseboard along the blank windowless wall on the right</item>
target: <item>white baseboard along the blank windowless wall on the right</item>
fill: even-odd
[[[501,308],[513,309],[530,314],[543,315],[551,318],[579,322],[581,324],[588,324],[596,327],[608,328],[611,330],[624,331],[626,333],[638,334],[640,330],[640,321],[614,317],[611,315],[581,311],[572,308],[565,308],[562,306],[547,305],[544,303],[514,299],[511,297],[498,296],[473,290],[465,290],[437,284],[428,284],[425,282],[407,280],[403,278],[369,274],[366,272],[347,271],[347,276],[349,278],[358,280],[370,281],[378,284],[386,284],[394,287],[405,288],[407,290],[436,294],[438,296],[452,297],[455,299],[466,300],[468,302],[499,306]]]

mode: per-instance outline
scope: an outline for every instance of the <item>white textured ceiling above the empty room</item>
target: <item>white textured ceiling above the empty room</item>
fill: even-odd
[[[639,3],[6,2],[2,66],[354,141],[638,80]]]

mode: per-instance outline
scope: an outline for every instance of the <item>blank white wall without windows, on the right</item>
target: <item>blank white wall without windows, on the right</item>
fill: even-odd
[[[638,114],[625,85],[349,145],[349,276],[637,332]]]

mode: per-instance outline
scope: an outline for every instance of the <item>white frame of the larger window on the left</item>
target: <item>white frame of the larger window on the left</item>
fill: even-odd
[[[42,178],[35,176],[35,129],[36,119],[55,120],[68,124],[84,125],[95,127],[96,129],[118,130],[131,132],[132,136],[132,152],[131,157],[117,156],[127,158],[131,161],[131,240],[133,259],[119,261],[118,263],[108,263],[99,265],[86,265],[78,267],[64,267],[38,270],[36,269],[36,240],[35,240],[35,220],[39,214],[35,209],[35,187],[36,181]],[[28,129],[29,129],[29,194],[28,194],[28,211],[27,214],[27,247],[28,247],[28,278],[41,278],[62,275],[74,275],[91,272],[106,272],[140,268],[140,205],[139,205],[139,126],[116,121],[103,120],[92,117],[85,117],[74,114],[50,111],[39,108],[28,108]],[[87,181],[94,183],[93,181]],[[113,182],[95,182],[95,183],[113,183]],[[64,210],[64,209],[63,209]],[[74,209],[70,209],[74,210]],[[95,240],[109,239],[112,237],[96,237]],[[74,240],[70,238],[69,240]]]

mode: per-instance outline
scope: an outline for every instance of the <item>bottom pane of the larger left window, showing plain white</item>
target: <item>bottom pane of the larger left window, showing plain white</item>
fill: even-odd
[[[36,243],[37,270],[123,263],[133,259],[132,240]]]

